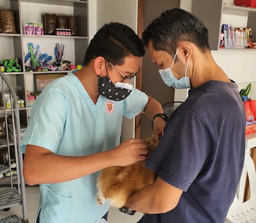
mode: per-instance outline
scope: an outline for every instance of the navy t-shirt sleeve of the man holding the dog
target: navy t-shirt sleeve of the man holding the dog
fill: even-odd
[[[204,166],[208,145],[211,140],[205,124],[190,111],[182,111],[168,120],[146,166],[163,181],[187,191]]]

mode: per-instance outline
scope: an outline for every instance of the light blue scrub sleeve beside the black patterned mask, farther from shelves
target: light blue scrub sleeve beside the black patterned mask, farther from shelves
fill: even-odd
[[[148,96],[144,92],[133,88],[130,95],[123,101],[123,115],[131,119],[143,111],[148,103]]]

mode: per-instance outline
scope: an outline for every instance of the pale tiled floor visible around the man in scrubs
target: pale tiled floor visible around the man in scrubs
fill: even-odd
[[[1,188],[1,190],[4,188]],[[35,223],[35,215],[37,214],[37,207],[39,202],[39,188],[37,187],[26,187],[26,213],[27,213],[27,219],[29,220],[29,223]],[[22,206],[13,206],[10,208],[9,211],[0,211],[0,219],[6,218],[10,215],[17,215],[17,217],[20,218],[20,220],[23,219],[22,214]],[[110,208],[109,215],[108,215],[108,223],[136,223],[138,220],[140,220],[141,216],[143,214],[136,213],[133,216],[121,213],[119,210],[116,210],[115,208]],[[57,223],[57,222],[56,222]],[[84,222],[86,223],[86,222]]]

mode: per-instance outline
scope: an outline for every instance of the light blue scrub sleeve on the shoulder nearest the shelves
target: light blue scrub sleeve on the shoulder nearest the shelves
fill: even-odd
[[[25,153],[26,146],[30,144],[56,152],[65,126],[66,106],[62,92],[43,91],[33,105],[20,151]]]

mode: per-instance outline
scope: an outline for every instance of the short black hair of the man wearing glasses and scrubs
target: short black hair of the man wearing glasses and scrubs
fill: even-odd
[[[84,65],[87,65],[95,56],[103,56],[114,65],[122,65],[125,57],[144,56],[143,41],[128,26],[122,23],[108,23],[100,28],[88,45]]]

